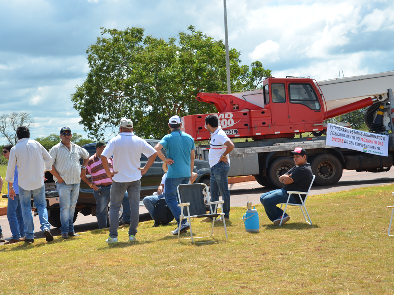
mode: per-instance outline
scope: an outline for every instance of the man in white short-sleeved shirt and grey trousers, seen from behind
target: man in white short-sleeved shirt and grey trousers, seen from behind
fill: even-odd
[[[129,241],[135,241],[139,222],[139,200],[141,177],[148,171],[156,159],[156,150],[142,138],[133,133],[133,123],[121,119],[120,134],[111,139],[101,154],[101,161],[107,176],[112,179],[111,206],[109,208],[109,238],[107,243],[118,242],[119,209],[127,191],[130,201],[131,220]],[[148,157],[145,167],[141,168],[141,154]],[[113,155],[113,168],[108,167],[108,159]]]

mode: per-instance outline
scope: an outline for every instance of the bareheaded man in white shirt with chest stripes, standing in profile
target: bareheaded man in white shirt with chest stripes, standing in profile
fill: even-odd
[[[230,192],[227,174],[230,169],[229,153],[234,148],[230,138],[219,126],[218,118],[215,115],[205,117],[205,127],[211,132],[209,142],[209,166],[211,167],[211,201],[219,201],[219,191],[222,194],[223,213],[225,221],[230,220]],[[201,222],[211,222],[212,219],[207,217]],[[221,219],[216,221],[222,221]]]

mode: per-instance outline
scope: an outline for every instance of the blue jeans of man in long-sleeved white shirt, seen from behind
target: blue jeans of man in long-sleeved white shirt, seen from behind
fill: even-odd
[[[48,211],[45,202],[45,186],[34,190],[24,190],[19,187],[19,201],[21,202],[23,221],[25,222],[25,236],[27,239],[34,239],[34,222],[32,216],[32,204],[30,202],[33,194],[34,204],[38,211],[41,231],[50,230],[51,225],[48,222]]]

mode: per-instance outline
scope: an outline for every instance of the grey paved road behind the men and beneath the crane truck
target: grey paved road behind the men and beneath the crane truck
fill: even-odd
[[[331,192],[344,191],[359,187],[368,186],[379,186],[390,184],[394,182],[394,169],[388,172],[381,173],[370,173],[370,172],[355,172],[355,171],[343,171],[341,180],[333,186],[313,186],[311,189],[311,195],[325,194]],[[230,184],[230,195],[231,195],[231,206],[246,206],[247,197],[252,204],[260,203],[260,196],[270,191],[265,187],[260,186],[256,181],[249,181],[244,183]],[[35,238],[43,238],[43,234],[40,232],[38,216],[34,217],[35,226]],[[144,207],[140,208],[140,221],[149,220],[150,216]],[[8,220],[6,216],[0,216],[0,223],[3,230],[3,235],[8,238],[11,236],[9,230]],[[75,222],[75,231],[84,232],[89,230],[97,229],[96,217],[91,215],[83,216],[78,214],[78,218]],[[57,228],[51,228],[52,235],[60,236],[60,231]],[[1,245],[2,243],[0,243]]]

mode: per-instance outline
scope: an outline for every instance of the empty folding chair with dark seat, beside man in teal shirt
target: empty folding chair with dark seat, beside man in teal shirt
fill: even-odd
[[[205,198],[205,202],[209,204],[209,209],[210,209],[209,214],[206,213],[206,207],[204,203],[204,193],[203,193],[204,189],[205,192],[207,193],[207,198]],[[226,229],[226,222],[224,218],[225,214],[214,213],[217,212],[218,204],[220,204],[220,207],[222,209],[222,204],[224,203],[224,201],[211,202],[211,198],[209,196],[209,189],[204,183],[181,184],[178,185],[177,192],[179,199],[178,207],[181,207],[181,215],[179,216],[180,223],[182,223],[182,220],[184,219],[188,220],[190,224],[190,239],[192,240],[192,242],[195,242],[194,239],[197,238],[211,237],[215,225],[215,217],[219,217],[219,216],[223,216],[222,217],[223,226],[225,228],[225,234],[227,239],[227,229]],[[212,205],[215,205],[214,210],[212,209]],[[223,212],[223,209],[221,211]],[[212,217],[211,235],[193,237],[191,218],[202,218],[202,217]],[[179,231],[178,231],[178,239],[181,240],[181,238],[179,238]],[[182,238],[182,239],[189,239],[189,238]]]

